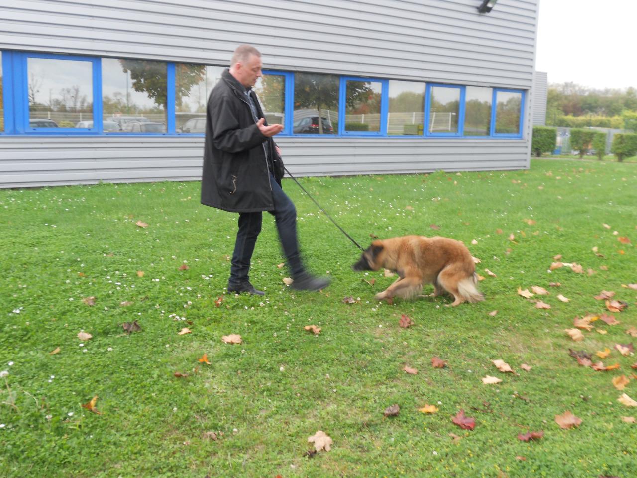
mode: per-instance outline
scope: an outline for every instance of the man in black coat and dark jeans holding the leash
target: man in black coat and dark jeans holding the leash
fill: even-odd
[[[308,273],[299,254],[296,235],[296,208],[281,189],[283,161],[273,136],[280,124],[266,123],[252,87],[261,76],[261,54],[250,45],[241,45],[231,66],[213,88],[206,109],[201,203],[239,213],[239,230],[234,243],[228,292],[263,295],[250,284],[248,272],[262,212],[275,216],[276,228],[291,287],[318,291],[329,280]]]

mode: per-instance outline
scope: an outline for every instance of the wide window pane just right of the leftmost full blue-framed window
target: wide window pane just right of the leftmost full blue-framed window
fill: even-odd
[[[166,63],[103,59],[104,121],[117,123],[120,127],[117,131],[104,133],[166,133],[167,93]]]

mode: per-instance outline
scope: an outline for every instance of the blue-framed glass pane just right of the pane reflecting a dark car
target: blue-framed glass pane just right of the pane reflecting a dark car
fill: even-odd
[[[345,128],[343,133],[380,134],[382,82],[345,79]]]

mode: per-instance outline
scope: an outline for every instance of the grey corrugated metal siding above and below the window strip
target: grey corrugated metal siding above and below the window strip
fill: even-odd
[[[0,49],[264,66],[530,89],[539,0],[22,0],[0,2]],[[525,138],[531,108],[525,105]],[[299,175],[525,168],[524,140],[280,138]],[[0,136],[0,187],[193,179],[201,138]]]

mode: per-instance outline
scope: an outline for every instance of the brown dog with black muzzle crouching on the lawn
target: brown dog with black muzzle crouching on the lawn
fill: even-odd
[[[394,284],[376,294],[377,300],[394,296],[413,298],[423,284],[433,284],[434,297],[447,291],[454,303],[477,302],[484,296],[476,289],[478,277],[471,252],[454,239],[434,236],[401,236],[371,243],[355,271],[389,269],[398,274]]]

